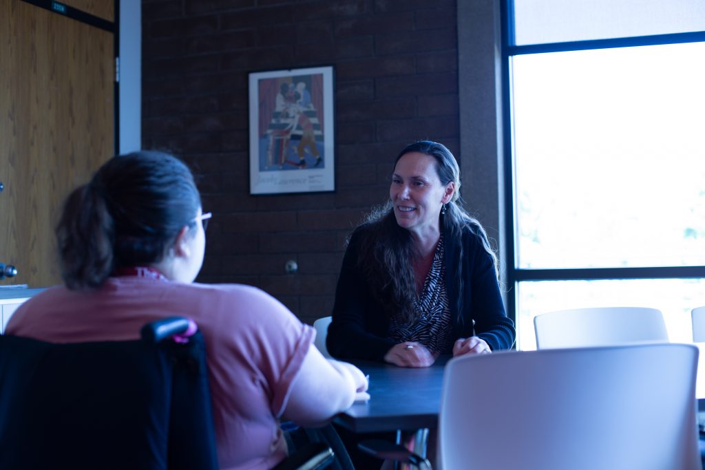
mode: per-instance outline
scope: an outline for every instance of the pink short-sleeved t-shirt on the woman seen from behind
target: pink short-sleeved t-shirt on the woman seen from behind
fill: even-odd
[[[315,332],[245,285],[110,278],[99,290],[51,287],[22,304],[6,333],[50,342],[132,340],[166,316],[190,316],[206,342],[221,469],[270,469],[286,457],[278,418]]]

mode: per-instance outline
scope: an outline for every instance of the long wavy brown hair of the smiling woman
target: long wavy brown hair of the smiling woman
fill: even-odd
[[[453,197],[446,204],[445,214],[439,214],[441,233],[446,240],[459,240],[463,228],[469,228],[482,242],[482,246],[494,261],[497,271],[497,256],[489,244],[487,234],[477,219],[467,214],[460,205],[460,168],[455,156],[443,144],[421,140],[407,145],[396,157],[394,168],[405,154],[419,152],[431,156],[436,161],[436,173],[442,185],[455,183]],[[418,320],[419,314],[414,311],[413,304],[417,297],[416,281],[412,261],[419,256],[416,252],[409,230],[398,225],[394,216],[392,202],[372,209],[364,223],[360,225],[364,237],[360,245],[358,266],[367,276],[375,299],[384,306],[389,316],[398,313],[407,323]],[[458,250],[458,272],[456,281],[459,283],[458,315],[462,319],[462,244]]]

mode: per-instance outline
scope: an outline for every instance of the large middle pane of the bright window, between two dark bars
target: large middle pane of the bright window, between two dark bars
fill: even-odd
[[[704,57],[511,58],[518,268],[705,265]]]

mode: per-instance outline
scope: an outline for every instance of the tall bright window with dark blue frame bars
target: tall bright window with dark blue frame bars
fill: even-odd
[[[705,4],[505,4],[517,348],[546,311],[705,305]],[[513,26],[513,28],[512,28]]]

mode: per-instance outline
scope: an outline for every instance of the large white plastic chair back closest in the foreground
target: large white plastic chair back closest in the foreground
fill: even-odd
[[[443,470],[700,470],[697,347],[649,343],[451,359]]]

